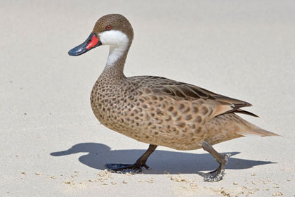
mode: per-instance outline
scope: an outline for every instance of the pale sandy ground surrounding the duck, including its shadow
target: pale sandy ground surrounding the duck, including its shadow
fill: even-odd
[[[0,13],[0,196],[295,195],[295,1],[1,0]],[[243,117],[284,137],[214,146],[232,153],[217,183],[198,174],[217,167],[202,150],[159,147],[152,170],[105,173],[105,163],[133,163],[147,148],[91,111],[107,47],[67,55],[107,13],[122,13],[135,31],[127,76],[249,101],[260,118]]]

